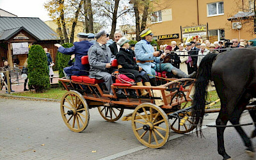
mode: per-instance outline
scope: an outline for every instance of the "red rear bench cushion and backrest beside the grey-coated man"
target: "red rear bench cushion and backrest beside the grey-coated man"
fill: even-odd
[[[83,56],[81,58],[81,63],[82,65],[88,65],[89,60],[88,56]],[[97,83],[103,83],[103,79],[95,79],[95,78],[90,78],[88,76],[71,76],[71,80],[75,82],[83,82],[83,83],[90,83],[90,84],[97,84]]]

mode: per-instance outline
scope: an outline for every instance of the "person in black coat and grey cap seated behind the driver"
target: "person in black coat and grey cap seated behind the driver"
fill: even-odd
[[[129,40],[127,38],[122,37],[117,45],[120,46],[120,51],[116,54],[116,60],[118,62],[118,69],[121,74],[125,74],[125,76],[134,79],[137,86],[151,86],[148,76],[146,72],[142,71],[142,68],[136,64],[134,61],[133,53],[130,50],[130,45],[128,44]],[[143,80],[143,83],[141,82]],[[145,96],[148,92],[146,90],[141,90],[141,95]]]

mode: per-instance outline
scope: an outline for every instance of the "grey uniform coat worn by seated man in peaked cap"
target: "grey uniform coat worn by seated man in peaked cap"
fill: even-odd
[[[108,46],[100,46],[98,42],[95,42],[88,51],[88,58],[90,63],[90,78],[102,79],[108,75],[106,69],[106,63],[111,61],[111,51]]]

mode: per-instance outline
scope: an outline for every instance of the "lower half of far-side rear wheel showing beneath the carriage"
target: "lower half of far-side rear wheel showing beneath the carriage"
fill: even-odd
[[[100,106],[98,107],[98,110],[100,115],[108,122],[115,122],[116,120],[119,120],[124,113],[124,108],[113,108],[110,106]]]

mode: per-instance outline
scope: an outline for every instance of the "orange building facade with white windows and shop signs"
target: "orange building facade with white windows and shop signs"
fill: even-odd
[[[211,43],[232,38],[251,40],[253,31],[253,0],[159,0],[148,28],[154,33],[158,44],[200,42]],[[241,13],[237,16],[237,13]]]

